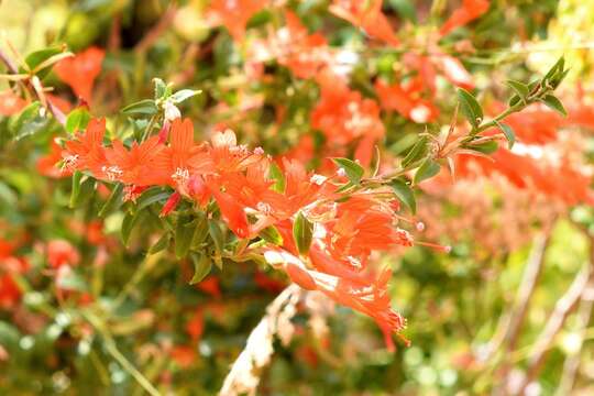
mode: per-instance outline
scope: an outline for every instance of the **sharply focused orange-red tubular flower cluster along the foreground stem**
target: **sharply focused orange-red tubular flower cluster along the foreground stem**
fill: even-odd
[[[151,186],[168,188],[162,216],[182,200],[205,211],[216,202],[221,220],[241,240],[274,227],[280,243],[257,244],[244,253],[264,255],[300,286],[373,317],[386,333],[404,328],[387,294],[391,270],[370,262],[373,252],[414,243],[396,226],[399,202],[389,188],[341,193],[349,183],[343,169],[326,177],[295,161],[276,164],[262,148],[239,145],[230,130],[216,133],[210,143],[195,143],[188,119],[166,122],[158,135],[130,147],[120,140],[103,145],[105,130],[105,121],[95,119],[67,141],[63,166],[125,185],[127,200]],[[280,176],[273,177],[273,168]],[[296,240],[297,221],[310,228],[306,250]]]

